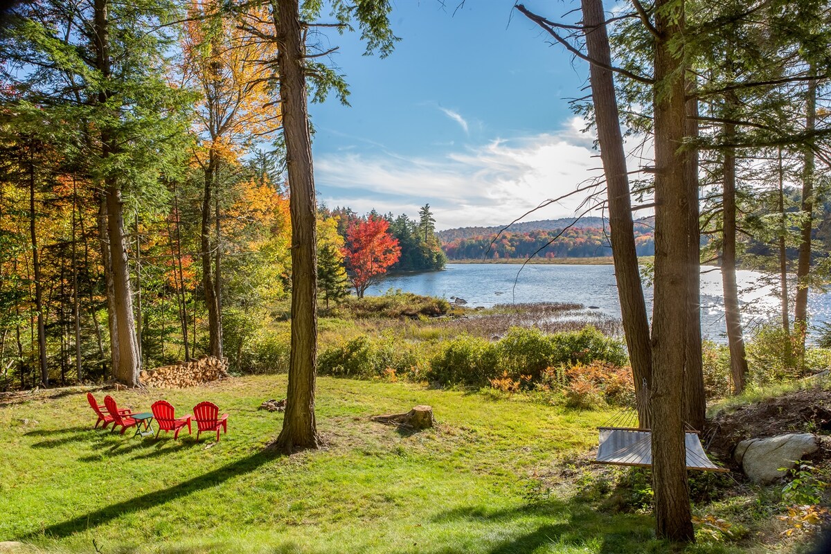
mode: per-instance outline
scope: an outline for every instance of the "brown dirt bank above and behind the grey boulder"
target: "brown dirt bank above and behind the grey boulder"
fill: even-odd
[[[709,419],[701,442],[708,453],[733,465],[733,450],[745,439],[774,437],[788,433],[831,432],[831,390],[797,390]],[[816,456],[829,458],[827,449]],[[816,456],[814,458],[816,458]]]

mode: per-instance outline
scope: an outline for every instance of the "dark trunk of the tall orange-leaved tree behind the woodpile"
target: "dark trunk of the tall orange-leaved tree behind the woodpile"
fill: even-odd
[[[214,247],[210,241],[210,215],[214,208],[214,204],[211,202],[211,193],[216,181],[217,164],[217,153],[212,147],[209,152],[208,165],[204,171],[204,194],[202,197],[202,288],[204,290],[205,306],[208,307],[209,352],[210,355],[221,359],[222,322],[219,321],[219,296],[216,293],[213,268],[214,248],[219,248],[219,244]],[[217,272],[219,272],[219,267]]]

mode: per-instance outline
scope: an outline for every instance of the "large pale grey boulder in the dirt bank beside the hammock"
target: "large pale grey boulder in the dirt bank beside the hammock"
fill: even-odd
[[[735,461],[741,464],[754,483],[773,483],[784,477],[795,462],[819,449],[817,437],[810,433],[780,434],[769,439],[747,439],[735,447]]]

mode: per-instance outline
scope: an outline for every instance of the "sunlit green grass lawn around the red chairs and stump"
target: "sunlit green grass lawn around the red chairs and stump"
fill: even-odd
[[[165,398],[180,414],[212,400],[230,414],[219,443],[93,430],[81,394],[0,408],[0,541],[106,554],[670,552],[652,539],[651,517],[596,512],[568,486],[538,487],[538,473],[595,443],[608,413],[320,378],[327,448],[281,457],[263,447],[283,415],[257,407],[285,386],[279,375],[114,393],[122,407]],[[433,406],[438,429],[402,434],[367,419],[415,404]]]

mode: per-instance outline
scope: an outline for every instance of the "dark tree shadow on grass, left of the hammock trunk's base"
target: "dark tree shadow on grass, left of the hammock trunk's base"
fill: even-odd
[[[442,512],[434,517],[433,521],[486,521],[508,527],[511,522],[520,525],[519,520],[534,516],[560,522],[544,523],[529,532],[499,542],[488,551],[489,554],[524,554],[534,552],[540,547],[586,548],[599,554],[664,552],[660,548],[663,543],[653,537],[650,518],[598,512],[590,505],[573,498],[529,503],[503,510],[461,507]],[[563,522],[563,518],[567,521]],[[450,552],[452,551],[447,551],[447,554]]]

